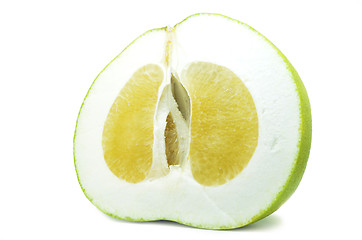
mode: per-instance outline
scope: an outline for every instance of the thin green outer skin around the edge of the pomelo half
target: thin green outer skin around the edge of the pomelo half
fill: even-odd
[[[277,50],[280,57],[284,60],[285,64],[287,65],[287,70],[291,73],[292,78],[294,79],[294,82],[295,82],[295,85],[296,85],[296,88],[297,88],[297,92],[298,92],[298,96],[299,96],[299,99],[300,99],[299,111],[300,111],[300,115],[301,115],[301,119],[300,119],[301,124],[300,124],[300,128],[299,128],[299,134],[300,134],[300,140],[299,140],[299,144],[298,144],[299,152],[297,154],[297,157],[295,158],[294,166],[292,168],[292,171],[290,172],[290,175],[289,175],[287,181],[285,182],[282,190],[277,194],[277,196],[271,202],[271,204],[269,206],[266,206],[264,209],[262,209],[259,212],[259,214],[254,216],[249,222],[240,222],[239,224],[232,225],[232,226],[209,226],[209,225],[208,226],[203,226],[203,225],[198,225],[198,224],[195,224],[195,223],[192,223],[192,222],[185,222],[185,221],[182,220],[182,218],[180,218],[180,219],[142,219],[142,218],[141,219],[133,219],[133,218],[130,218],[130,217],[117,216],[117,215],[105,212],[103,209],[101,209],[99,206],[97,206],[93,202],[93,199],[91,199],[87,195],[87,192],[83,188],[83,186],[82,186],[82,184],[81,184],[81,182],[79,180],[79,175],[78,175],[77,165],[76,165],[76,159],[75,159],[75,154],[74,154],[75,169],[76,169],[78,181],[79,181],[79,184],[80,184],[80,186],[81,186],[81,188],[83,190],[83,193],[88,198],[88,200],[93,203],[93,205],[95,205],[100,211],[102,211],[103,213],[105,213],[105,214],[107,214],[107,215],[109,215],[111,217],[122,219],[122,220],[127,220],[127,221],[138,221],[138,222],[156,221],[156,220],[169,220],[169,221],[175,221],[175,222],[178,222],[178,223],[181,223],[181,224],[184,224],[184,225],[197,227],[197,228],[204,228],[204,229],[234,229],[234,228],[239,228],[239,227],[243,227],[243,226],[246,226],[248,224],[254,223],[256,221],[259,221],[260,219],[263,219],[263,218],[269,216],[270,214],[272,214],[273,212],[275,212],[294,193],[294,191],[297,189],[297,187],[298,187],[298,185],[299,185],[299,183],[300,183],[300,181],[301,181],[301,179],[303,177],[303,174],[304,174],[304,171],[305,171],[305,168],[306,168],[306,165],[307,165],[309,152],[310,152],[310,147],[311,147],[311,141],[312,141],[312,116],[311,116],[311,108],[310,108],[310,103],[309,103],[309,98],[308,98],[308,95],[307,95],[307,91],[306,91],[306,89],[305,89],[305,87],[303,85],[303,82],[300,79],[297,71],[294,69],[294,67],[288,61],[288,59],[283,55],[283,53],[273,43],[271,43],[267,38],[265,38],[263,35],[261,35],[255,29],[251,28],[250,26],[248,26],[245,23],[242,23],[242,22],[240,22],[238,20],[223,16],[221,14],[198,13],[198,14],[194,14],[194,15],[191,15],[191,16],[185,18],[183,21],[176,24],[175,27],[177,27],[177,25],[181,24],[182,22],[186,21],[187,19],[189,19],[189,18],[191,18],[193,16],[197,16],[197,15],[218,15],[218,16],[225,17],[225,18],[227,18],[229,20],[236,21],[239,24],[242,24],[244,26],[249,27],[251,30],[256,32],[258,35],[262,36],[265,39],[265,41],[269,42]],[[165,30],[165,29],[166,29],[166,27],[164,27],[164,28],[156,28],[156,29],[152,29],[152,30],[147,31],[144,34],[147,34],[148,32],[151,32],[151,31],[159,31],[159,30]],[[144,34],[142,34],[141,36],[143,36]],[[139,36],[139,37],[141,37],[141,36]],[[135,39],[128,46],[132,45],[137,39]],[[128,46],[124,50],[126,50],[128,48]],[[119,57],[122,54],[122,52],[117,57]],[[114,61],[114,59],[111,62],[113,62],[113,61]],[[108,65],[104,69],[106,69],[108,67]],[[104,69],[102,70],[102,72],[104,71]],[[102,72],[100,72],[98,74],[98,76]],[[98,76],[97,76],[97,78],[98,78]],[[89,90],[92,88],[92,86],[93,86],[94,82],[97,80],[97,78],[93,81],[93,83],[92,83],[91,87],[89,88]],[[87,92],[87,95],[84,98],[84,101],[88,96],[89,90]],[[80,112],[82,110],[84,101],[83,101],[82,106],[80,108],[79,114],[80,114]],[[78,117],[79,117],[79,114],[78,114]],[[75,136],[77,134],[77,126],[78,126],[78,119],[77,119],[77,123],[76,123],[73,142],[74,142]],[[75,153],[74,147],[73,147],[73,152]]]

